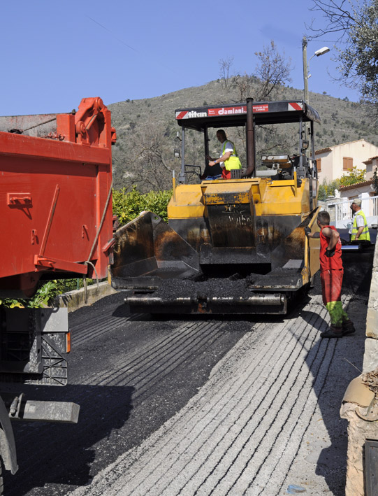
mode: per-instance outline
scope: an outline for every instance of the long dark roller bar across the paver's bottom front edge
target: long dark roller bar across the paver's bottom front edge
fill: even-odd
[[[287,312],[289,295],[254,294],[247,297],[175,297],[169,300],[154,293],[135,294],[126,297],[132,313],[191,313],[234,315],[272,314]]]

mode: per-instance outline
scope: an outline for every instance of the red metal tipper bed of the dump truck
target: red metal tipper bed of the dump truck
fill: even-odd
[[[11,128],[33,117],[2,119]],[[107,275],[116,139],[110,111],[100,98],[85,98],[77,113],[48,117],[54,129],[43,137],[0,132],[0,297],[31,296],[51,273]]]

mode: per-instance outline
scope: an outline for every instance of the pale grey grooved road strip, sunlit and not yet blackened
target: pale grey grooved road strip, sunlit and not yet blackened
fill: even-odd
[[[326,315],[320,297],[315,297],[313,302],[305,307],[305,310],[312,311],[320,319]],[[269,342],[269,340],[276,342],[276,360],[272,364],[272,368],[282,367],[282,360],[291,360],[292,358],[286,353],[289,348],[284,348],[282,341],[277,341],[277,332],[282,332],[283,339],[286,336],[288,341],[290,341],[289,337],[296,336],[294,341],[296,341],[295,348],[298,359],[293,360],[293,366],[289,367],[291,372],[285,369],[286,375],[280,376],[279,392],[273,398],[273,403],[269,395],[264,395],[264,390],[260,389],[261,409],[256,409],[254,416],[256,418],[253,418],[253,422],[244,418],[243,413],[248,413],[249,404],[254,405],[259,401],[259,397],[255,398],[255,395],[259,392],[259,385],[261,385],[259,378],[261,379],[261,374],[266,373],[263,364],[259,362],[261,363],[261,367],[258,367],[259,370],[254,369],[257,390],[242,389],[243,383],[251,380],[249,374],[252,371],[241,376],[240,382],[229,381],[229,389],[226,387],[227,375],[234,378],[238,374],[245,374],[245,371],[251,367],[250,355],[256,353],[256,350],[252,349],[256,348],[256,340],[253,334],[252,336],[247,334],[219,362],[219,366],[213,371],[208,384],[198,393],[198,397],[192,399],[175,418],[168,420],[159,432],[152,434],[145,443],[125,453],[119,457],[115,464],[102,471],[91,486],[75,490],[74,495],[122,496],[131,495],[133,491],[134,494],[145,495],[148,491],[152,491],[154,494],[173,496],[179,495],[182,487],[184,487],[185,495],[195,494],[197,490],[198,494],[208,495],[215,487],[214,477],[217,478],[215,481],[217,483],[217,495],[227,494],[231,488],[233,488],[233,494],[256,495],[261,493],[261,488],[265,488],[265,491],[268,490],[268,482],[272,478],[272,474],[274,480],[269,487],[273,492],[268,490],[265,494],[277,494],[277,489],[282,487],[282,483],[284,483],[288,467],[293,463],[293,456],[295,458],[295,453],[298,452],[298,450],[294,450],[294,455],[292,453],[288,455],[286,448],[291,443],[291,438],[302,439],[303,432],[305,432],[309,422],[307,417],[311,418],[317,405],[317,395],[315,395],[313,388],[316,386],[317,390],[321,390],[323,387],[330,360],[335,352],[335,345],[332,343],[319,342],[321,340],[318,337],[318,331],[313,327],[315,324],[319,325],[317,317],[314,317],[310,324],[305,323],[301,317],[298,317],[298,320],[302,323],[297,323],[297,326],[293,319],[285,325],[270,324],[270,329],[265,331],[269,335],[269,339],[266,335],[261,337],[259,344],[261,355],[264,355],[265,352],[263,343]],[[305,331],[298,331],[301,325],[305,327]],[[261,331],[263,326],[256,327],[260,327]],[[296,333],[299,334],[296,335]],[[308,350],[306,349],[307,345]],[[299,355],[297,348],[300,348]],[[273,360],[272,357],[267,358]],[[276,375],[276,377],[278,376]],[[226,404],[229,403],[233,413],[233,416],[226,420],[222,416],[224,402],[219,399],[218,383],[221,383],[221,388],[223,386],[223,395],[228,397]],[[214,385],[215,390],[213,390]],[[240,398],[240,405],[238,402],[235,404],[237,398]],[[272,404],[275,405],[274,412],[270,411]],[[218,417],[222,419],[217,425],[212,426],[215,427],[210,431],[212,437],[215,438],[212,443],[209,441],[211,436],[201,437],[198,443],[198,429],[196,427],[204,422],[204,412],[201,410],[212,411],[210,422],[208,419],[207,425],[202,426],[205,432],[208,432],[208,426],[212,425]],[[302,418],[299,418],[298,411],[302,414]],[[268,413],[273,414],[275,418],[269,420]],[[236,417],[240,419],[240,425],[235,421]],[[247,427],[243,427],[243,423],[246,423]],[[242,439],[237,437],[240,429],[243,429]],[[256,437],[255,434],[257,429],[259,429],[259,437]],[[292,435],[285,435],[286,430]],[[228,436],[227,431],[232,435]],[[168,444],[167,435],[170,439]],[[177,450],[177,438],[186,443],[182,446],[184,451],[182,449]],[[231,449],[226,455],[222,452],[222,438],[228,439],[228,444],[230,444],[230,440],[233,440]],[[198,444],[200,445],[199,448]],[[214,450],[219,451],[216,457],[212,455]],[[256,451],[254,452],[254,450]],[[155,460],[159,457],[163,457],[165,463],[158,466]],[[221,460],[221,467],[217,469],[216,464],[219,459]],[[209,460],[211,460],[211,464],[209,464]],[[208,474],[213,470],[212,476],[208,479],[205,477],[205,484],[203,484],[203,474],[198,472],[198,464],[205,467]],[[172,468],[167,469],[167,467]],[[279,473],[280,467],[286,467],[284,473]],[[184,479],[186,478],[184,486],[182,486],[182,475],[184,475]],[[106,478],[110,485],[107,486],[106,493],[102,492],[102,478]],[[159,483],[155,485],[154,481],[159,481]],[[162,488],[163,491],[161,491]]]

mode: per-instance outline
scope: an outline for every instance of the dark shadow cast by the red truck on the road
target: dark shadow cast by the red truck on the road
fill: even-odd
[[[46,483],[61,483],[67,490],[69,486],[87,485],[92,481],[96,443],[110,438],[127,422],[133,408],[133,388],[67,385],[29,392],[23,389],[29,399],[78,403],[80,416],[76,425],[13,423],[20,468],[15,476],[6,473],[6,494],[21,496]],[[96,453],[96,458],[101,456]]]

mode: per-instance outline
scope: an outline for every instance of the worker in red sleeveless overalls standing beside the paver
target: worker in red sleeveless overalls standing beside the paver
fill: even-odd
[[[311,232],[305,227],[309,238],[320,238],[320,279],[323,303],[330,314],[330,327],[320,335],[322,338],[340,338],[352,334],[354,325],[342,309],[341,287],[344,269],[341,260],[340,234],[334,226],[330,226],[330,216],[321,211],[317,217],[320,232]]]

